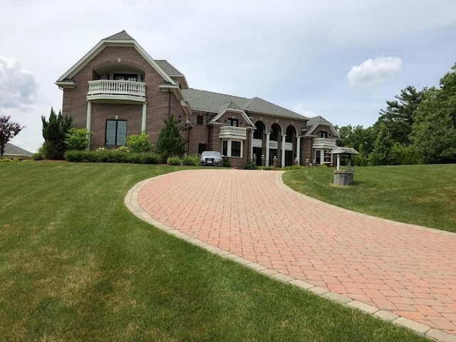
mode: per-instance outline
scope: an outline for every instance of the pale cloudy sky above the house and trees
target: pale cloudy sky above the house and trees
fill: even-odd
[[[120,31],[190,88],[281,105],[333,125],[373,125],[407,86],[438,86],[456,63],[456,0],[0,0],[0,116],[26,126],[61,110],[55,81]]]

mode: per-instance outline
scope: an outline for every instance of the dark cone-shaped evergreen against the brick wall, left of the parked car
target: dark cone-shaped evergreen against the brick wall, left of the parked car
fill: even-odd
[[[182,137],[182,125],[175,120],[174,115],[165,119],[165,126],[160,130],[157,140],[157,152],[162,155],[163,160],[167,157],[182,157],[185,153],[185,139]]]

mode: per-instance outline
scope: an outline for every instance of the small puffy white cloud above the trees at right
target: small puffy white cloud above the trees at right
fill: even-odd
[[[353,66],[347,78],[351,85],[375,84],[397,75],[401,70],[400,58],[379,56],[374,60],[369,58],[359,66]]]

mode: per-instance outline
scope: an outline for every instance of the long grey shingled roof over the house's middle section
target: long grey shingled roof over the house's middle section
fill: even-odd
[[[294,113],[291,110],[282,108],[279,105],[274,105],[262,98],[241,98],[239,96],[212,93],[206,90],[198,89],[182,89],[185,100],[190,103],[193,110],[201,110],[203,112],[219,113],[220,106],[226,103],[233,103],[242,110],[248,110],[256,113],[264,113],[275,115],[282,118],[294,118],[307,120],[304,115]]]

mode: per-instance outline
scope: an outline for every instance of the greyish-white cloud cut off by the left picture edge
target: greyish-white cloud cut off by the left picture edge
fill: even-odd
[[[36,103],[35,77],[14,58],[0,56],[0,108],[27,109]]]

